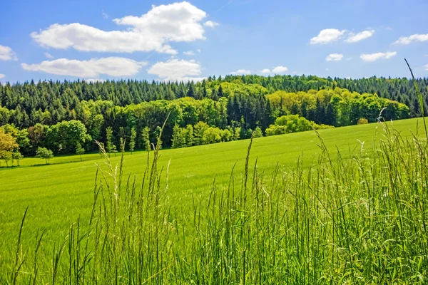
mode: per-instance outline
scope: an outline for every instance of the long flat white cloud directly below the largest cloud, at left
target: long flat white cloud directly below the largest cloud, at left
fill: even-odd
[[[133,76],[146,64],[146,62],[138,62],[129,58],[109,57],[91,58],[89,61],[58,58],[54,61],[42,61],[39,64],[22,63],[21,66],[26,71],[40,71],[59,76],[94,78],[100,74]]]

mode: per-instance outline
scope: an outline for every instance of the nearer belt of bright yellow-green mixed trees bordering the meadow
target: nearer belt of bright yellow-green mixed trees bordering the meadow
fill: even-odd
[[[204,88],[212,86],[211,83],[213,81],[205,81]],[[46,83],[41,84],[44,86]],[[71,83],[72,86],[77,84],[78,82]],[[81,84],[86,86],[86,83]],[[168,87],[169,83],[160,83],[159,86],[163,84]],[[189,90],[192,90],[193,83],[188,84]],[[102,86],[103,83],[98,85]],[[34,86],[39,88],[39,84]],[[199,86],[204,85],[200,83]],[[3,90],[13,88],[16,86],[6,86]],[[190,93],[198,92],[197,90],[199,89],[194,88]],[[212,94],[220,96],[210,98]],[[36,102],[37,98],[39,97],[33,98],[33,101]],[[19,155],[37,155],[44,149],[51,150],[54,154],[82,154],[86,150],[96,150],[98,145],[95,141],[102,142],[109,153],[119,150],[121,145],[131,151],[148,149],[151,142],[157,141],[160,126],[168,114],[169,119],[161,138],[164,147],[239,140],[249,138],[253,130],[257,135],[275,135],[307,130],[308,126],[327,128],[354,125],[361,119],[375,122],[380,113],[385,120],[399,120],[409,118],[410,115],[407,105],[380,98],[377,93],[360,94],[336,87],[297,93],[277,90],[269,94],[267,88],[258,84],[228,81],[213,87],[208,98],[199,99],[185,96],[172,100],[117,105],[114,100],[98,98],[76,100],[64,107],[59,102],[60,98],[56,99],[56,106],[63,109],[55,109],[55,105],[47,104],[46,108],[39,108],[28,114],[19,105],[15,109],[0,107],[0,128],[3,133],[14,138],[19,147]],[[67,98],[65,96],[61,100]],[[48,99],[49,96],[46,97]],[[27,100],[30,99],[23,102],[26,103]],[[54,116],[53,113],[58,110],[61,112]],[[285,122],[277,118],[287,115],[295,115],[288,117],[292,118],[289,122],[295,123],[275,124]],[[300,127],[291,128],[290,124]],[[285,128],[285,125],[288,127]],[[10,159],[13,154],[18,155],[17,150],[4,149],[1,153],[0,159],[3,157],[4,160]]]

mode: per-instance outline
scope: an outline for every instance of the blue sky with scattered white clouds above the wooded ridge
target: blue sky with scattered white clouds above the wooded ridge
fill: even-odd
[[[0,82],[428,77],[427,0],[1,0]]]

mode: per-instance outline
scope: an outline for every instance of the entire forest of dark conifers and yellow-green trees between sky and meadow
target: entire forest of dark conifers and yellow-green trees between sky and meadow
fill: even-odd
[[[427,78],[417,84],[428,104]],[[428,108],[424,108],[428,110]],[[225,76],[198,83],[34,81],[0,85],[0,159],[97,150],[186,147],[419,117],[407,78]],[[6,142],[10,143],[6,143]]]

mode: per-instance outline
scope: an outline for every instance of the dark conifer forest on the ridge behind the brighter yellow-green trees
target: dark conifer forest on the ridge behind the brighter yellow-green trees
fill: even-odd
[[[428,105],[428,78],[417,79]],[[267,95],[278,90],[297,93],[309,90],[345,88],[360,94],[377,94],[409,107],[410,117],[419,117],[420,105],[412,80],[407,78],[319,78],[317,76],[225,76],[209,77],[200,83],[148,81],[39,81],[0,85],[0,125],[14,123],[29,128],[36,123],[55,125],[62,120],[78,119],[82,101],[106,100],[116,106],[153,100],[190,97],[219,100],[231,94]],[[428,111],[428,108],[425,108]],[[426,114],[427,115],[427,114]]]

